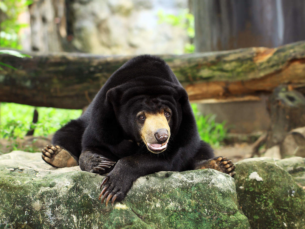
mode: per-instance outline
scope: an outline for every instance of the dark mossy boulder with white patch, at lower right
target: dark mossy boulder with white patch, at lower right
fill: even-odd
[[[251,228],[305,228],[305,158],[236,163],[237,196]]]

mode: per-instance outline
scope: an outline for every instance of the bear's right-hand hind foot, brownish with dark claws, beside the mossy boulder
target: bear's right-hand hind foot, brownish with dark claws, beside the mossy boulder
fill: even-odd
[[[195,169],[216,169],[227,173],[230,176],[235,174],[235,165],[226,157],[216,157],[209,160],[202,160],[195,163]]]

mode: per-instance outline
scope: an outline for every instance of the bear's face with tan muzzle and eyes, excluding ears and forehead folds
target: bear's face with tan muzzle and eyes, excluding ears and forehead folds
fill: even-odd
[[[118,115],[128,137],[138,143],[143,142],[152,153],[166,150],[173,112],[165,101],[158,97],[137,96],[123,105]]]

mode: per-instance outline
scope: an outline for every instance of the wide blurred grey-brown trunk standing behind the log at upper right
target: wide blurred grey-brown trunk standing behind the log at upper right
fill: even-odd
[[[305,39],[303,0],[193,0],[197,52]]]

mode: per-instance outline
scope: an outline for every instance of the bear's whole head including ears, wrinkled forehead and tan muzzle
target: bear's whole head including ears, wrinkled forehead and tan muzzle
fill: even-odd
[[[185,96],[187,100],[185,90],[181,91],[164,84],[154,87],[146,82],[145,86],[139,83],[110,89],[106,97],[124,139],[144,143],[150,152],[158,154],[167,149],[171,135],[179,129],[180,101],[182,97],[185,100]]]

